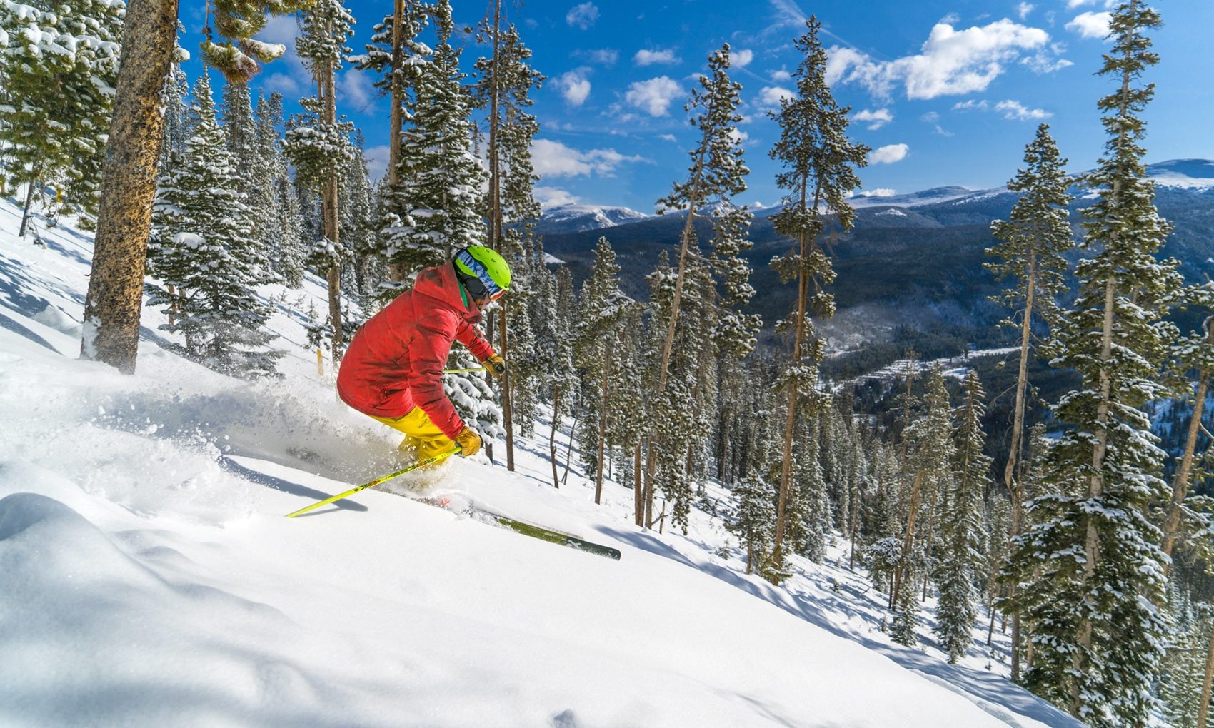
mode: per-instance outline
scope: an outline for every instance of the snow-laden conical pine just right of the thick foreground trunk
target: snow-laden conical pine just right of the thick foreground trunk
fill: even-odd
[[[246,237],[248,209],[205,73],[192,112],[186,155],[164,177],[153,209],[148,271],[163,285],[149,285],[152,302],[172,313],[160,328],[183,336],[186,356],[225,374],[272,374],[280,352],[266,348],[274,339],[265,328],[271,309],[254,290],[263,258]]]

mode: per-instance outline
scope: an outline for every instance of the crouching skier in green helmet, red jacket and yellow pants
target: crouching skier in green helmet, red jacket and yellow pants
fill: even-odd
[[[443,392],[443,366],[459,340],[494,376],[505,360],[477,332],[481,309],[510,289],[510,266],[483,245],[418,273],[413,288],[354,334],[337,372],[337,394],[356,410],[404,433],[401,450],[418,459],[449,453],[469,457],[481,436]]]

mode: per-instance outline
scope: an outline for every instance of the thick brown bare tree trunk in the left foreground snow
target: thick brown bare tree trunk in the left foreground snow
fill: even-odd
[[[172,61],[176,0],[131,0],[106,144],[80,357],[135,374],[143,267],[164,136],[160,91]]]

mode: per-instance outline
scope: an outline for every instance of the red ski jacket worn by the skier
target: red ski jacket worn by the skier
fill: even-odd
[[[455,439],[464,420],[443,392],[443,368],[456,339],[482,362],[493,356],[493,347],[473,328],[480,320],[481,311],[449,261],[421,271],[410,290],[354,334],[341,359],[337,394],[378,417],[401,417],[420,406]]]

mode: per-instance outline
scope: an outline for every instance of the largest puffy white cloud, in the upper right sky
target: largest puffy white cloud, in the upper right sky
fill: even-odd
[[[1049,34],[1006,18],[987,25],[957,30],[937,23],[920,53],[894,61],[874,61],[855,49],[828,50],[827,83],[860,84],[879,98],[887,98],[896,84],[907,98],[983,91],[1025,51],[1045,47]]]

